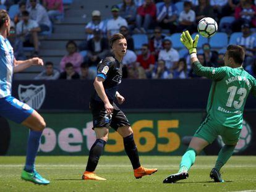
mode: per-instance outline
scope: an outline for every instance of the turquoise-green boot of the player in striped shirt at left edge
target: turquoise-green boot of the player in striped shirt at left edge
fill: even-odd
[[[45,178],[41,177],[41,175],[33,169],[32,172],[26,172],[25,170],[22,171],[21,178],[28,182],[33,182],[39,185],[48,185],[49,181]]]

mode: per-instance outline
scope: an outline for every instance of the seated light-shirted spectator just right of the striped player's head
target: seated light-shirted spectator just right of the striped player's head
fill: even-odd
[[[34,55],[38,55],[38,32],[41,29],[35,20],[29,19],[27,10],[22,12],[22,20],[17,23],[16,34],[22,40],[24,47],[34,46]]]

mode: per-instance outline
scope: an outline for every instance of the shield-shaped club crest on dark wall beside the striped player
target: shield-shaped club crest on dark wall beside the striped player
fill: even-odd
[[[18,94],[22,102],[28,104],[33,109],[40,109],[45,101],[45,85],[19,85]]]

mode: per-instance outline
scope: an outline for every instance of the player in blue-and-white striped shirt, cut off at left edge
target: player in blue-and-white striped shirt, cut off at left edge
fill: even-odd
[[[35,157],[40,144],[45,120],[27,104],[11,96],[12,74],[27,69],[31,65],[43,65],[34,57],[26,61],[16,61],[14,50],[7,40],[10,31],[10,18],[6,10],[0,10],[0,115],[30,128],[27,144],[27,158],[21,178],[37,184],[47,185],[49,181],[35,170]]]

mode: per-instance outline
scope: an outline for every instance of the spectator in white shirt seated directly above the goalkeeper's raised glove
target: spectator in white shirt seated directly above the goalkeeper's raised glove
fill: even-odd
[[[190,34],[196,31],[195,12],[192,10],[192,3],[189,1],[184,2],[184,10],[179,15],[177,31],[181,32],[184,30],[189,30]]]

